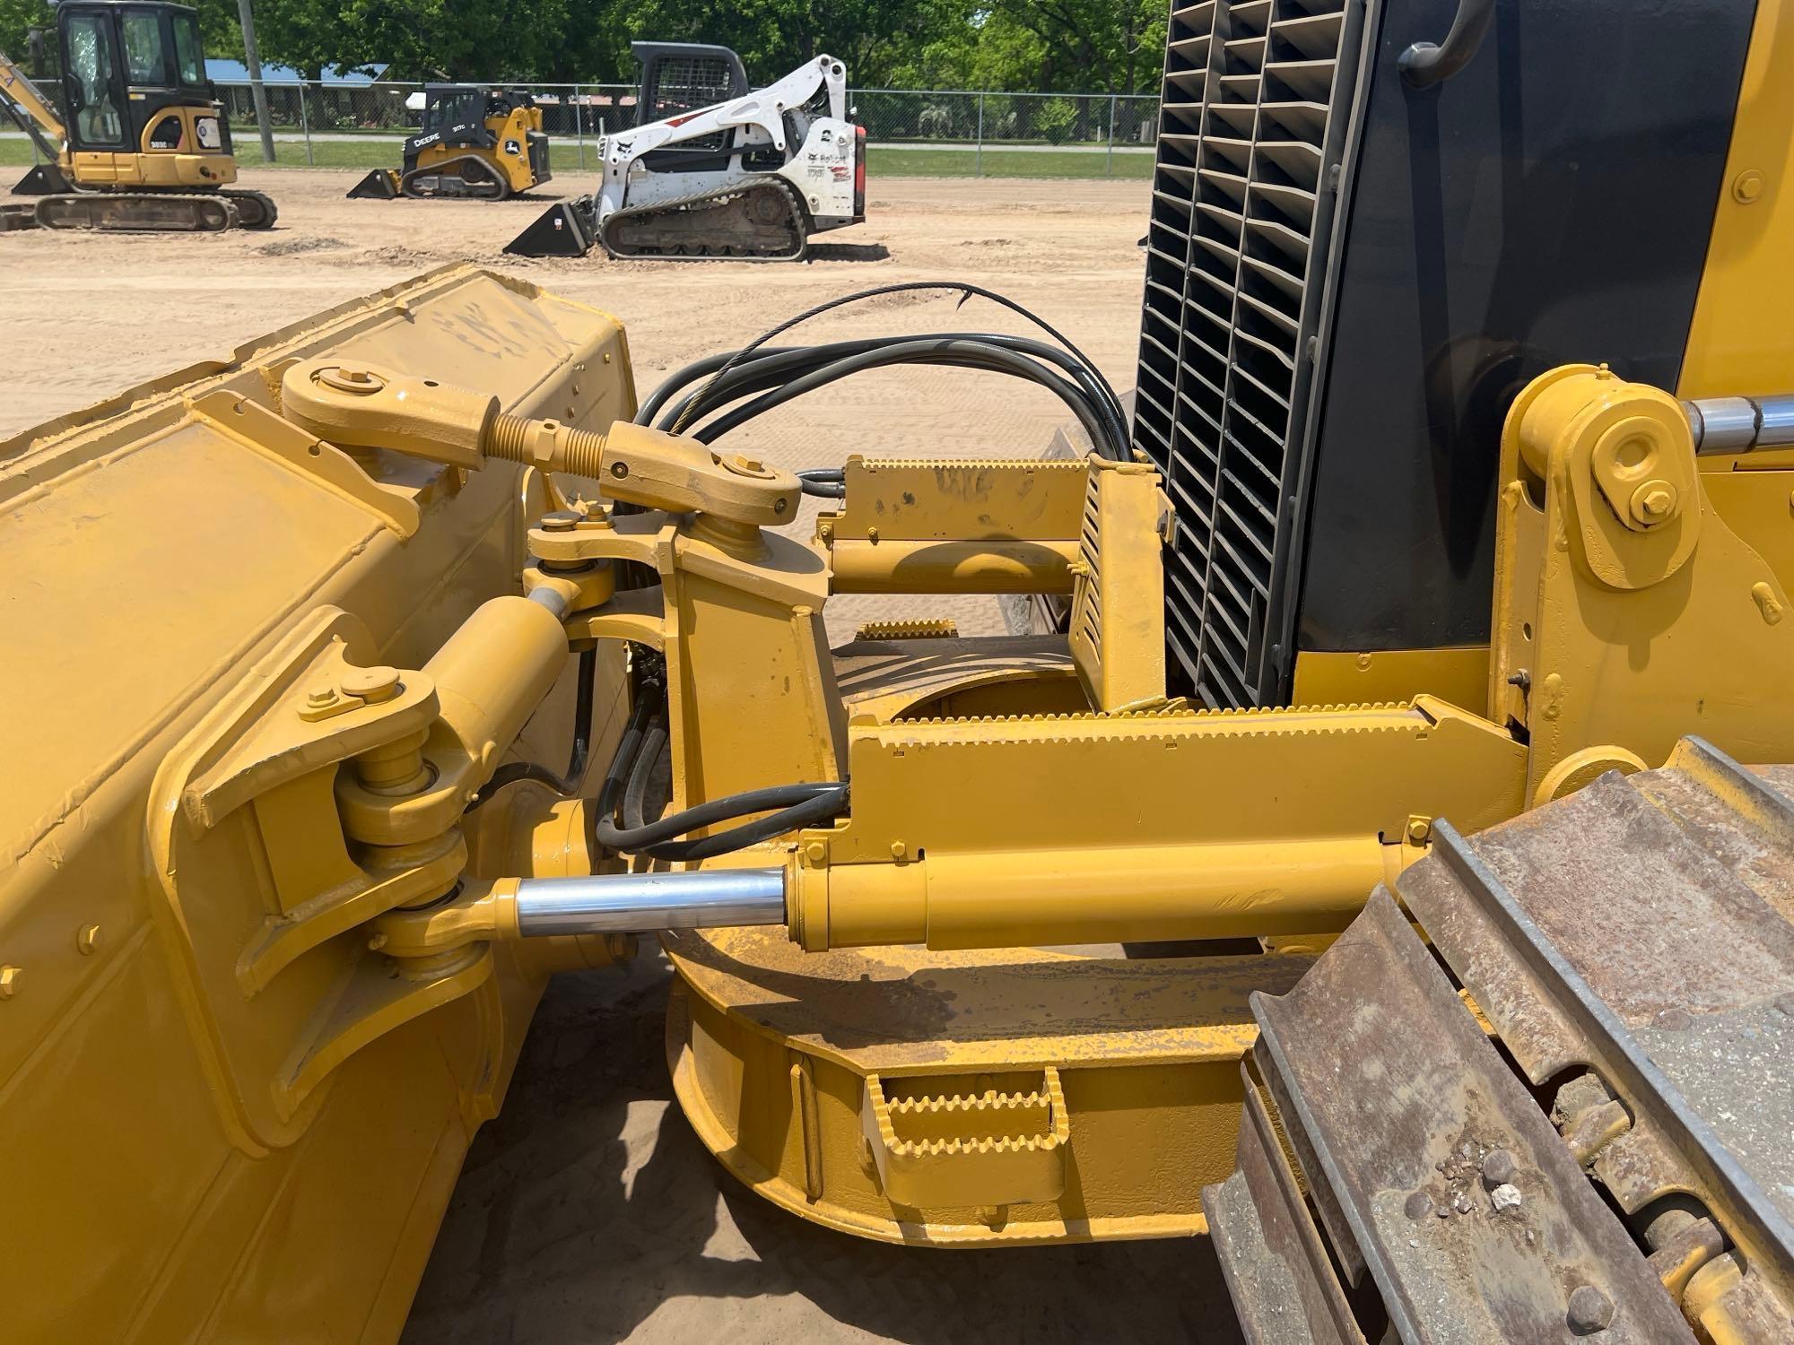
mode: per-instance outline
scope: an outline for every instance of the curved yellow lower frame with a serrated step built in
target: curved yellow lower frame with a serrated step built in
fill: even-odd
[[[1232,1164],[1247,995],[1310,965],[806,954],[777,929],[666,947],[667,1060],[705,1144],[795,1214],[927,1246],[1202,1232],[1195,1189]]]

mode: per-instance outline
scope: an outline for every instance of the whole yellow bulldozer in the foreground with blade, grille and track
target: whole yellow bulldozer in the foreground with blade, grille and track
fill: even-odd
[[[1179,4],[1132,412],[1044,325],[644,396],[448,267],[0,445],[13,1334],[393,1340],[547,979],[657,936],[793,1218],[1206,1234],[1254,1341],[1794,1338],[1781,18]],[[901,362],[1085,452],[730,452]]]

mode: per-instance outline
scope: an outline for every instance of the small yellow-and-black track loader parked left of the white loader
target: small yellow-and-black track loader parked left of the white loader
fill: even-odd
[[[542,109],[524,90],[427,84],[422,111],[404,167],[373,169],[348,190],[350,199],[504,201],[554,176]]]

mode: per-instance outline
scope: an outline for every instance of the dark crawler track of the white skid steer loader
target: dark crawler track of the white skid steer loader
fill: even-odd
[[[782,178],[617,210],[599,242],[612,256],[666,262],[802,262],[804,208]]]

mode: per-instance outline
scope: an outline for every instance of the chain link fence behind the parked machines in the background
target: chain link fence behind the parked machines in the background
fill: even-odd
[[[596,170],[599,136],[635,124],[628,84],[524,84],[542,108],[554,169]],[[422,126],[422,84],[264,84],[278,161],[396,165]],[[219,84],[237,152],[255,161],[248,84]],[[1130,93],[852,90],[872,167],[926,176],[1146,176],[1159,99]]]

